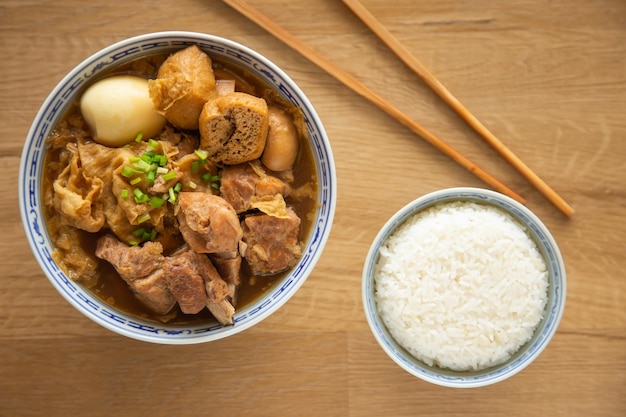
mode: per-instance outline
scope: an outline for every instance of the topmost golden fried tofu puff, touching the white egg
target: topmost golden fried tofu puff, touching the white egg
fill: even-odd
[[[182,49],[163,62],[148,87],[168,122],[179,129],[198,129],[204,104],[216,94],[211,58],[197,45]]]

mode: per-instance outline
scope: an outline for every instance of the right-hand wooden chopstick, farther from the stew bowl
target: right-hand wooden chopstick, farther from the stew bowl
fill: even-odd
[[[491,145],[513,168],[528,180],[565,216],[574,214],[574,209],[567,204],[548,184],[533,172],[521,159],[493,135],[459,100],[457,100],[439,80],[404,47],[359,0],[342,0],[352,12],[370,28],[426,85],[428,85],[448,106],[450,106],[467,124]]]

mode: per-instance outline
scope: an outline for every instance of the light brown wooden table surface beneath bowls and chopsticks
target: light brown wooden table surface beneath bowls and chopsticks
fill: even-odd
[[[502,142],[576,210],[565,218],[340,1],[250,0],[527,199],[560,245],[567,303],[528,368],[485,388],[410,376],[374,340],[366,252],[425,193],[484,184],[220,1],[0,3],[0,416],[626,415],[626,2],[363,0]],[[338,203],[318,266],[261,324],[160,346],[75,311],[26,242],[17,176],[39,106],[75,64],[128,36],[190,30],[243,43],[308,95],[335,156]]]

